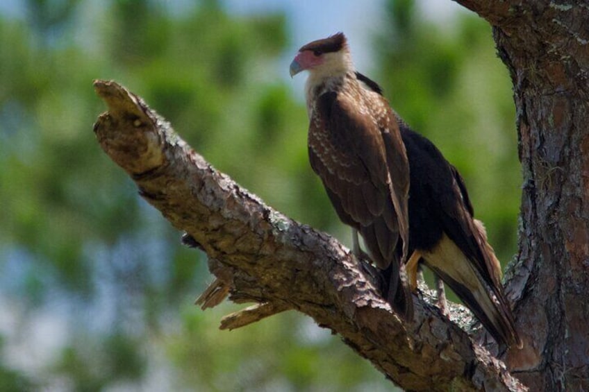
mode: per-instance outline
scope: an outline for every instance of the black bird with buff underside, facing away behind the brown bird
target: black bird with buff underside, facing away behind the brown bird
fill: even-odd
[[[458,169],[400,117],[410,171],[409,250],[411,291],[423,262],[461,298],[499,344],[522,348],[501,285],[501,264],[489,244]]]

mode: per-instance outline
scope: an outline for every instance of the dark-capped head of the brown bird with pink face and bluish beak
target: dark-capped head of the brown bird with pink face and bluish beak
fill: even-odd
[[[313,78],[343,76],[354,70],[344,33],[309,42],[290,63],[290,76],[309,71]]]

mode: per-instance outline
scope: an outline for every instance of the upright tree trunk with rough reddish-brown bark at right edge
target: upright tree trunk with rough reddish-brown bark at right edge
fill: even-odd
[[[589,3],[457,0],[493,26],[513,80],[524,186],[508,291],[531,391],[589,390]]]

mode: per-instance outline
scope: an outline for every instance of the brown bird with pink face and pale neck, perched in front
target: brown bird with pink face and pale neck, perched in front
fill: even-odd
[[[413,299],[404,274],[409,166],[397,118],[378,85],[356,71],[343,33],[302,46],[290,76],[301,71],[308,71],[310,166],[340,220],[351,226],[354,254],[376,264],[383,296],[411,320]]]

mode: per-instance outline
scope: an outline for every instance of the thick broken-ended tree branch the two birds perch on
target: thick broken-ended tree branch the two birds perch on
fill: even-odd
[[[262,304],[225,319],[226,327],[297,309],[404,389],[524,390],[424,298],[414,297],[414,323],[402,323],[349,250],[219,173],[138,96],[114,82],[97,80],[94,88],[108,105],[94,124],[103,150],[208,254],[218,281],[202,303],[213,298],[214,306],[229,292],[235,302]]]

